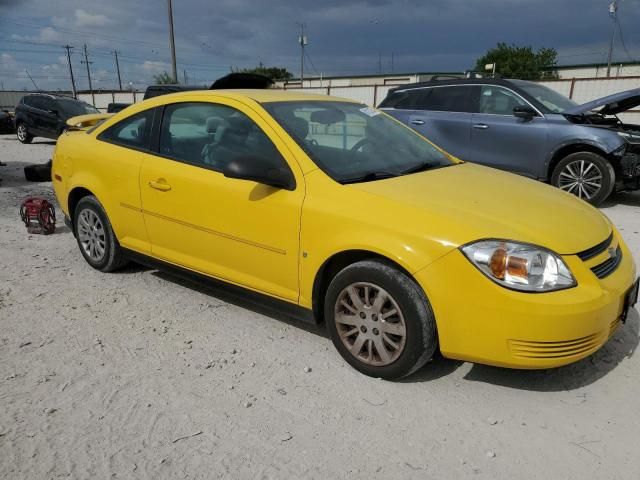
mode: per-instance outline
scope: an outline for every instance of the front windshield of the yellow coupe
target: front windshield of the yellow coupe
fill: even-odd
[[[319,100],[264,107],[318,167],[341,183],[454,164],[413,130],[362,104]]]

